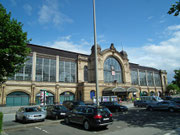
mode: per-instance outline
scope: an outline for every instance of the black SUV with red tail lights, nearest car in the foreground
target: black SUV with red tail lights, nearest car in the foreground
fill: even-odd
[[[65,119],[66,124],[70,122],[81,124],[85,130],[92,127],[107,127],[112,124],[112,113],[108,108],[102,106],[77,106],[68,112]]]

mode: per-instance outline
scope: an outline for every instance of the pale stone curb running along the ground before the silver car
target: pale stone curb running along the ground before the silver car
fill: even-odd
[[[45,121],[45,122],[38,122],[38,123],[30,123],[30,124],[22,124],[22,125],[15,125],[15,126],[7,126],[3,128],[3,131],[14,131],[14,130],[19,130],[22,128],[28,128],[28,127],[35,127],[35,126],[42,126],[42,125],[49,125],[49,124],[58,124],[63,119],[61,120],[56,120],[56,121]]]

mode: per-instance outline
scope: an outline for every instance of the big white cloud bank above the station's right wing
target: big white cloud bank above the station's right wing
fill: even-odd
[[[169,26],[167,30],[171,33],[168,40],[141,48],[128,48],[127,52],[131,62],[166,70],[168,80],[172,81],[174,69],[180,68],[180,25]]]

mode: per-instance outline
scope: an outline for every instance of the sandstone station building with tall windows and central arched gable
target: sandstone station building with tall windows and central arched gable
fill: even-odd
[[[92,102],[96,95],[94,46],[90,55],[33,44],[28,47],[31,53],[25,66],[0,86],[0,106],[40,104],[42,90],[47,104]],[[114,44],[105,50],[98,45],[97,53],[101,97],[128,100],[165,93],[166,71],[130,63],[127,53],[116,50]]]

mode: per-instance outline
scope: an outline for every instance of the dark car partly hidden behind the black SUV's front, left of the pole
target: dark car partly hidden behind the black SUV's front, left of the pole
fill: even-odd
[[[79,105],[85,105],[85,103],[83,101],[64,101],[63,105],[69,109],[72,110],[73,108],[75,108],[76,106]]]

